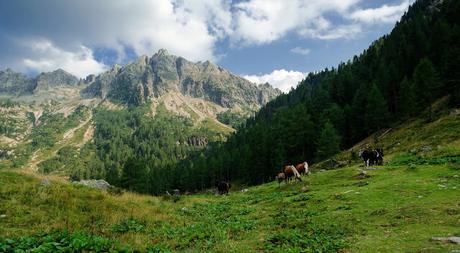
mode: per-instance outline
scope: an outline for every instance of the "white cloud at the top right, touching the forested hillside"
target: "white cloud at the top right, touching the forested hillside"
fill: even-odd
[[[360,9],[351,13],[350,19],[364,23],[394,23],[409,8],[410,1],[404,0],[399,5],[383,5],[374,9]]]

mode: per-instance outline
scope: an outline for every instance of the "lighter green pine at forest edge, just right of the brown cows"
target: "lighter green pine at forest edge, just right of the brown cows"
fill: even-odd
[[[321,161],[340,152],[340,137],[334,126],[326,122],[318,142],[316,160]]]

